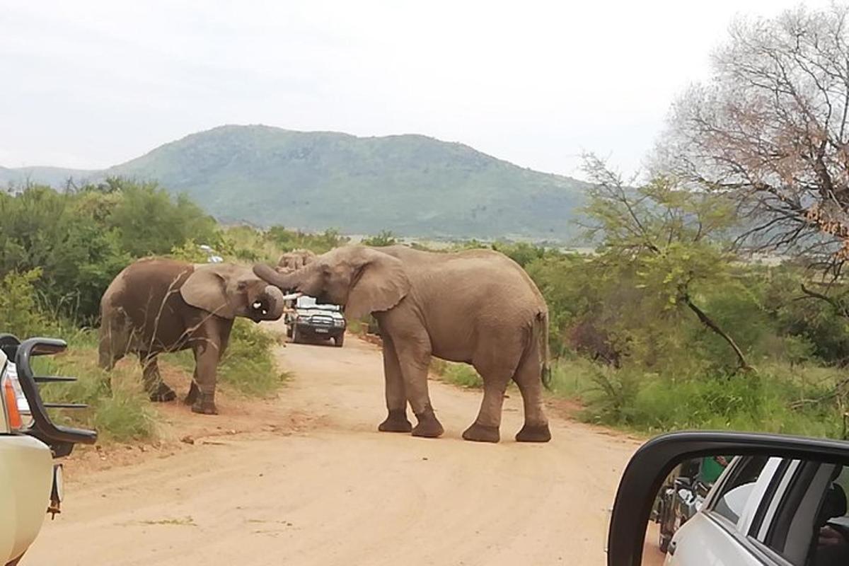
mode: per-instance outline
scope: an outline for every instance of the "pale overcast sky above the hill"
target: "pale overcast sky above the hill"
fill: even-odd
[[[0,165],[101,168],[261,123],[633,171],[734,15],[796,4],[0,0]]]

